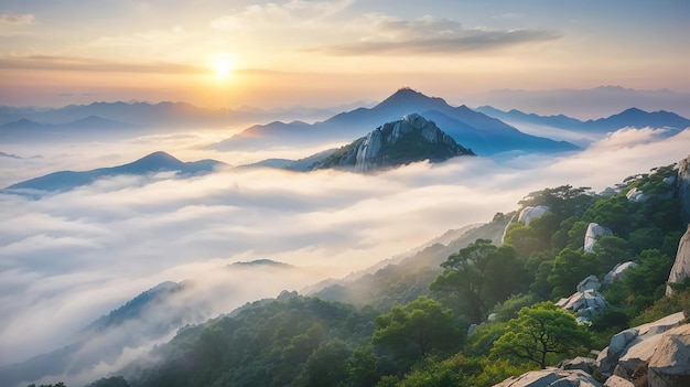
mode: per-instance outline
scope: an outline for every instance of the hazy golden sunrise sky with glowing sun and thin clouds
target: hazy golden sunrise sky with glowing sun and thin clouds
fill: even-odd
[[[0,105],[328,106],[400,86],[689,93],[688,20],[687,0],[3,0]]]

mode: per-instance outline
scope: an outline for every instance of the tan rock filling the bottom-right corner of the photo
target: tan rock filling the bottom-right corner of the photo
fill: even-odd
[[[649,387],[690,386],[690,324],[661,335],[647,370]]]

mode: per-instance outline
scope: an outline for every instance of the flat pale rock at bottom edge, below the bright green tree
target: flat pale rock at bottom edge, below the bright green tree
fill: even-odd
[[[581,369],[531,370],[510,377],[494,387],[601,387],[592,376]]]

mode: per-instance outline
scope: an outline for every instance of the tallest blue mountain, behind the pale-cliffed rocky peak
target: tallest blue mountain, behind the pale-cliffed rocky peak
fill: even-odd
[[[466,106],[452,107],[438,97],[428,97],[410,88],[401,88],[373,108],[358,108],[309,125],[301,121],[257,125],[234,137],[213,144],[217,150],[259,149],[271,146],[347,141],[362,137],[380,122],[390,122],[409,114],[420,114],[436,121],[455,141],[487,155],[503,151],[561,152],[576,150],[568,142],[558,142],[520,132],[505,122],[474,111]],[[443,123],[440,122],[443,120]]]

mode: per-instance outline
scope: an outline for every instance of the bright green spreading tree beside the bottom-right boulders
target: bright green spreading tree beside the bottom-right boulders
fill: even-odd
[[[522,308],[518,318],[508,322],[506,333],[494,343],[492,356],[533,362],[543,369],[563,356],[585,352],[591,343],[591,333],[572,314],[541,302]]]

